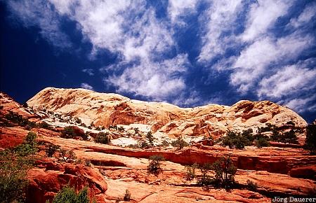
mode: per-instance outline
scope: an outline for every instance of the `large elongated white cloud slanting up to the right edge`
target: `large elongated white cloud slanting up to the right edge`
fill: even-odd
[[[294,32],[282,38],[265,37],[242,50],[232,65],[230,83],[246,93],[262,76],[269,74],[280,63],[297,59],[303,50],[310,48],[314,38]]]

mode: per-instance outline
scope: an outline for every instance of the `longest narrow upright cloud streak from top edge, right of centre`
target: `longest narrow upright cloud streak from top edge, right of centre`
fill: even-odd
[[[232,30],[239,13],[242,0],[212,1],[210,8],[202,15],[200,22],[205,27],[202,37],[202,48],[199,53],[199,62],[209,62],[216,55],[223,54],[233,36],[225,36],[225,31]],[[205,24],[205,25],[204,25]]]

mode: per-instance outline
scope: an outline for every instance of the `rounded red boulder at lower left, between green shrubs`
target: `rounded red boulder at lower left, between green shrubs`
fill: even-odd
[[[83,165],[61,164],[53,161],[53,158],[39,160],[39,168],[31,169],[27,178],[27,202],[44,203],[53,200],[58,191],[67,184],[81,190],[88,186],[90,193],[105,202],[104,193],[107,183],[104,177],[96,172],[96,169],[84,167]]]

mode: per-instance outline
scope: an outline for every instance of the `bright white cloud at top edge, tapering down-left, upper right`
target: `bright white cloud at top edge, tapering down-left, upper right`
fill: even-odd
[[[243,41],[254,39],[267,34],[267,30],[274,25],[276,20],[287,14],[287,10],[294,1],[262,0],[251,4],[251,9],[246,23],[246,30],[242,34]]]

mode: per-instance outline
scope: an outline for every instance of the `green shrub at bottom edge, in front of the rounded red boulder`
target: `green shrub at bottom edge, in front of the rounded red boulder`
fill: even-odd
[[[53,203],[90,203],[88,188],[84,187],[79,193],[70,186],[63,187],[53,198]]]

